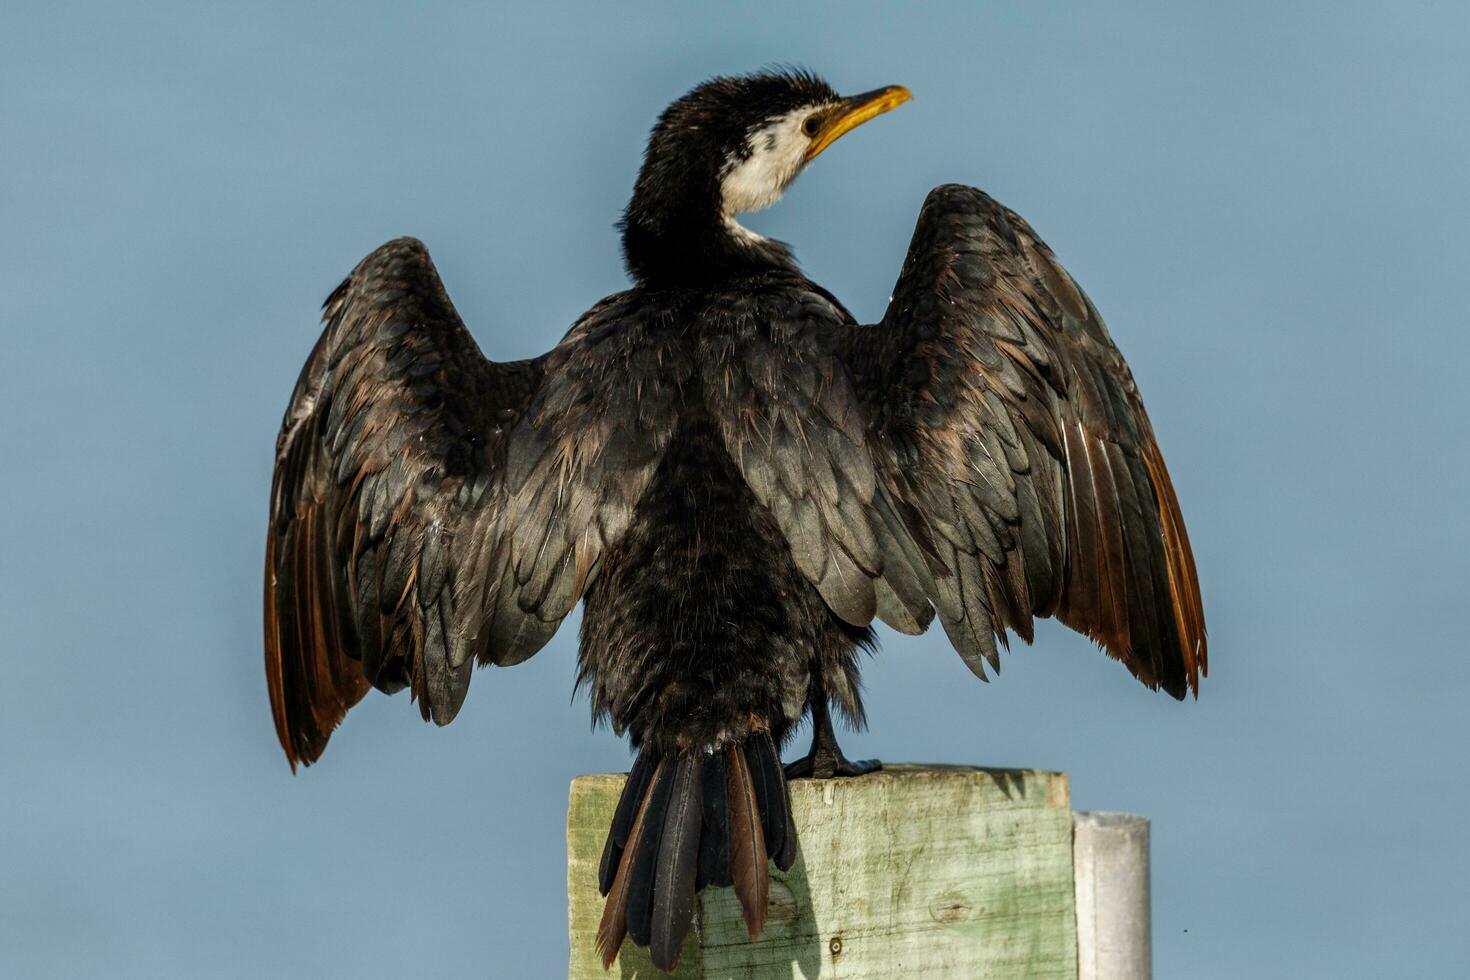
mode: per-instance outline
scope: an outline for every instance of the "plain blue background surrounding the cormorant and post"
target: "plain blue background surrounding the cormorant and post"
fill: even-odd
[[[1133,364],[1211,632],[1186,704],[1054,626],[988,686],[886,635],[848,748],[1151,815],[1160,977],[1467,976],[1464,4],[413,6],[0,12],[0,974],[564,976],[567,782],[628,758],[575,629],[293,779],[279,414],[401,234],[488,356],[548,348],[625,282],[659,109],[795,62],[914,101],[748,223],[875,319],[929,187],[1025,215]]]

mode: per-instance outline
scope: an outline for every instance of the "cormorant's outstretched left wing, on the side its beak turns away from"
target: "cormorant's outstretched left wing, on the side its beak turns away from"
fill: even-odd
[[[592,417],[585,361],[620,351],[573,329],[544,357],[485,360],[412,238],[363,259],[323,319],[276,442],[266,538],[266,677],[293,767],[369,686],[410,688],[444,724],[476,658],[539,649],[654,453],[617,451],[641,444],[622,432],[637,413]]]

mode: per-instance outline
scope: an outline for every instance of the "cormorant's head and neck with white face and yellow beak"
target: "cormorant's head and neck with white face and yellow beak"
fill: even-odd
[[[714,78],[659,118],[623,215],[639,281],[706,281],[789,263],[735,216],[775,204],[842,134],[910,98],[901,85],[839,96],[801,71]]]

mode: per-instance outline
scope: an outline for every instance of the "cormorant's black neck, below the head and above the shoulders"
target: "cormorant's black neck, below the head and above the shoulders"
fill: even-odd
[[[623,260],[645,285],[710,285],[770,270],[795,270],[791,250],[745,229],[716,194],[635,191],[623,215]]]

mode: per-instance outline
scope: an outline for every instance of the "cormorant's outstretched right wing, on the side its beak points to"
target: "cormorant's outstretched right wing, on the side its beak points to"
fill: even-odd
[[[847,328],[841,348],[972,670],[998,669],[1004,629],[1029,642],[1032,616],[1057,616],[1150,688],[1198,692],[1200,583],[1144,403],[1025,220],[935,188],[882,322]]]

